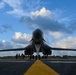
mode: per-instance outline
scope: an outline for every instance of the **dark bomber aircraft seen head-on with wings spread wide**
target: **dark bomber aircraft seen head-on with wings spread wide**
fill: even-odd
[[[39,59],[39,53],[42,52],[44,57],[48,57],[48,55],[52,54],[52,50],[63,50],[63,51],[76,51],[76,49],[68,49],[68,48],[53,48],[45,43],[45,39],[43,37],[43,32],[40,29],[36,29],[33,31],[32,39],[30,44],[25,48],[16,48],[16,49],[5,49],[0,50],[0,52],[4,51],[22,51],[24,50],[24,54],[33,58],[34,52],[37,53],[37,59]]]

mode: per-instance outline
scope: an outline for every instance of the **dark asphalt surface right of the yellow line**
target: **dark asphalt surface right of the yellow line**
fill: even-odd
[[[43,62],[60,75],[76,75],[76,60],[43,60]]]

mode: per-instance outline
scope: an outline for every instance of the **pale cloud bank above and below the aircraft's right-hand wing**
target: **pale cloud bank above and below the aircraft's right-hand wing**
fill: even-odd
[[[76,49],[76,37],[66,37],[51,43],[52,47]],[[74,51],[53,51],[53,55],[76,55]]]

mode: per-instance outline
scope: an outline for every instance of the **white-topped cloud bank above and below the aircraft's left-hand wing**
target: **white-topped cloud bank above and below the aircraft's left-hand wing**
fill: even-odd
[[[5,28],[9,28],[6,27]],[[3,49],[14,49],[14,48],[24,48],[29,44],[29,41],[31,40],[31,35],[21,32],[15,32],[14,36],[12,37],[11,41],[8,42],[6,40],[0,40],[0,50]],[[13,56],[17,53],[21,54],[24,51],[10,51],[10,52],[1,52],[0,56]]]

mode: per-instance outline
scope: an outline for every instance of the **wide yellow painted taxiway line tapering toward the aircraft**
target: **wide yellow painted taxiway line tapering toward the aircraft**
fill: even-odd
[[[52,68],[37,60],[24,75],[60,75]]]

